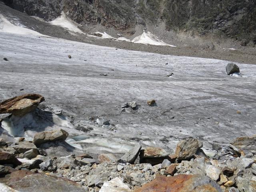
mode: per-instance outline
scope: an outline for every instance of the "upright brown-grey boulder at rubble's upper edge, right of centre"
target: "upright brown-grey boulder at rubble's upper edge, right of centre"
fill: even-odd
[[[187,138],[178,142],[175,155],[177,160],[188,160],[196,154],[197,150],[203,147],[203,143],[196,138]]]

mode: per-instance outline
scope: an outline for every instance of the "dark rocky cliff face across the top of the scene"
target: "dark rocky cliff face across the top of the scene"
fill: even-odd
[[[255,0],[2,0],[8,6],[52,20],[63,10],[80,24],[127,30],[164,23],[166,30],[256,42]]]

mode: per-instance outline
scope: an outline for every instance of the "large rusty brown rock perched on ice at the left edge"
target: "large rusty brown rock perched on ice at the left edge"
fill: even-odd
[[[39,94],[26,94],[17,96],[0,103],[0,114],[11,113],[16,116],[24,116],[31,112],[44,101]]]

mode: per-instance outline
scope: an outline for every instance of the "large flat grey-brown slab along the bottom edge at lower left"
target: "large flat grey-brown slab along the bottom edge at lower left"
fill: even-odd
[[[84,188],[76,182],[46,174],[28,175],[17,182],[11,183],[10,187],[18,190],[19,192],[85,191]]]

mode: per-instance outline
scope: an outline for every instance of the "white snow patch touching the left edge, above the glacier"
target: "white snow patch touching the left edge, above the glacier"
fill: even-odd
[[[34,35],[34,36],[45,36],[31,29],[25,28],[26,26],[22,24],[17,24],[18,26],[12,24],[8,21],[2,14],[0,14],[0,32],[12,33],[12,34],[22,34],[22,35]]]

